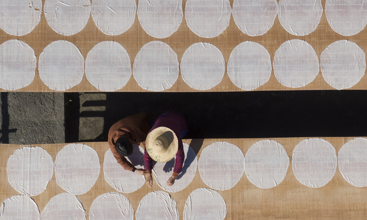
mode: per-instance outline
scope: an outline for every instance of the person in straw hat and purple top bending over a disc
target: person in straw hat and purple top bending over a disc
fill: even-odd
[[[167,186],[172,186],[182,170],[185,153],[183,152],[182,137],[187,133],[185,118],[176,112],[167,111],[161,114],[146,138],[144,163],[146,169],[146,184],[153,185],[152,169],[153,160],[168,162],[175,157],[175,166],[172,176],[167,181]]]

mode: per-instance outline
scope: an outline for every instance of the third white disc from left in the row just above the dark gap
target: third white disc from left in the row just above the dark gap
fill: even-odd
[[[103,41],[88,52],[86,77],[95,88],[114,92],[122,89],[131,75],[130,56],[116,41]]]

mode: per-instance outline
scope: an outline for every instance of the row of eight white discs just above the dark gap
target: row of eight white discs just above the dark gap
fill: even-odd
[[[0,88],[15,90],[32,83],[37,58],[34,50],[19,40],[0,45]],[[85,65],[85,69],[84,69]],[[281,44],[273,65],[269,52],[261,44],[246,41],[230,54],[227,73],[243,90],[265,84],[272,72],[286,87],[298,88],[311,83],[321,72],[326,82],[336,89],[357,84],[366,70],[366,55],[354,42],[339,40],[330,44],[319,58],[304,40],[293,39]],[[69,41],[54,41],[40,54],[38,69],[41,80],[50,88],[65,91],[79,84],[84,72],[88,81],[100,91],[123,88],[133,74],[138,85],[148,91],[171,88],[179,76],[191,88],[207,90],[224,77],[226,63],[222,52],[210,43],[192,44],[178,62],[173,49],[162,41],[151,41],[140,49],[131,68],[126,49],[115,41],[95,45],[84,57]]]

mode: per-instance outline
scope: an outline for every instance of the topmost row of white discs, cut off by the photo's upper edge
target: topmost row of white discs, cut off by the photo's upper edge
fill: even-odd
[[[150,36],[166,38],[176,32],[183,18],[182,0],[46,0],[44,15],[57,33],[70,36],[84,29],[90,14],[98,29],[108,35],[126,32],[135,14]],[[41,19],[41,0],[0,2],[0,27],[6,33],[22,36],[32,32]],[[321,0],[187,0],[185,19],[200,37],[216,37],[229,26],[233,15],[236,25],[249,36],[259,36],[273,26],[276,15],[287,32],[304,36],[320,23]],[[326,18],[331,28],[344,36],[359,33],[367,24],[364,0],[326,0]]]

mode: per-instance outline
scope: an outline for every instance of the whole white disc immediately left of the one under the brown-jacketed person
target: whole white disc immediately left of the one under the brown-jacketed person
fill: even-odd
[[[74,195],[88,192],[98,179],[97,151],[86,144],[68,144],[56,155],[55,176],[61,188]]]

